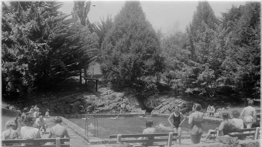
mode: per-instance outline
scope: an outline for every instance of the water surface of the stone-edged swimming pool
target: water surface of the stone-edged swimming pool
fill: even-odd
[[[82,118],[67,118],[69,121],[75,123],[81,128],[85,129],[85,120]],[[167,117],[153,116],[153,117],[122,117],[118,119],[111,118],[97,118],[98,121],[98,138],[108,139],[109,135],[114,134],[139,134],[146,129],[146,121],[153,120],[153,128],[156,129],[155,133],[165,133],[172,132],[173,129],[170,128],[170,125],[167,121]],[[182,121],[182,120],[181,120]],[[171,122],[173,120],[171,119]],[[88,125],[90,123],[95,124],[94,119],[88,120]],[[159,127],[157,124],[163,123],[166,127]],[[211,122],[202,122],[203,133],[207,133],[209,129],[215,129],[219,124]],[[188,125],[188,119],[186,119],[182,126],[182,137],[183,135],[190,135]],[[88,132],[95,134],[94,127],[89,127]]]

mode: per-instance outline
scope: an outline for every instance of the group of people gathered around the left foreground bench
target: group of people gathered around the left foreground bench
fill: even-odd
[[[49,116],[49,110],[47,109],[45,115],[41,115],[39,112],[39,108],[37,105],[32,106],[31,109],[28,107],[24,108],[16,117],[15,120],[8,120],[5,123],[6,129],[2,132],[2,140],[5,139],[40,139],[43,138],[43,135],[46,134],[46,130],[48,128],[47,120],[45,117]],[[61,125],[62,118],[60,116],[55,116],[53,119],[53,123],[55,126],[50,128],[50,132],[48,133],[48,138],[70,138],[67,132],[67,128]],[[55,145],[55,142],[51,142],[51,145]],[[64,142],[61,142],[64,144]],[[22,143],[22,144],[3,144],[2,146],[12,146],[12,145],[43,145],[42,143]]]

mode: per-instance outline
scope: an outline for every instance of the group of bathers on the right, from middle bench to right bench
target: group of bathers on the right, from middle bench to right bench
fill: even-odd
[[[253,103],[254,102],[251,100],[248,101],[248,106],[245,107],[241,113],[237,110],[233,110],[232,111],[233,119],[229,119],[228,113],[223,113],[222,114],[223,121],[215,129],[210,129],[205,139],[209,139],[209,136],[212,131],[219,131],[219,135],[222,136],[222,135],[227,135],[227,134],[223,134],[223,130],[235,129],[237,131],[240,131],[241,129],[244,129],[244,124],[246,125],[247,129],[251,128],[253,120],[256,117],[256,109],[252,107]],[[212,106],[209,105],[209,107],[212,107]],[[203,121],[203,117],[205,114],[201,112],[201,109],[202,109],[202,106],[200,104],[195,103],[188,117],[188,124],[191,126],[189,132],[190,132],[192,144],[200,143],[200,140],[203,134],[201,123]],[[181,145],[181,132],[182,132],[181,130],[183,128],[182,123],[186,120],[186,118],[179,110],[180,110],[179,107],[175,106],[174,112],[171,113],[167,121],[169,122],[171,128],[174,129],[174,132],[178,133],[178,142],[179,142],[179,145]],[[213,113],[213,111],[214,109],[207,108],[207,113],[210,113],[210,112]],[[240,119],[242,118],[242,116],[244,116],[243,119]],[[206,114],[206,117],[209,117],[209,114]],[[173,123],[172,123],[172,120],[173,120]],[[143,134],[154,133],[155,129],[152,128],[152,126],[153,126],[153,121],[147,120],[146,129],[143,130]],[[161,128],[162,127],[166,128],[166,126],[164,126],[163,124],[159,124],[159,126]],[[143,139],[143,137],[140,139]],[[147,146],[151,144],[143,144],[143,145]]]

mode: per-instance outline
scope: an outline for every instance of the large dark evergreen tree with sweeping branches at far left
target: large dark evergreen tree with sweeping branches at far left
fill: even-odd
[[[2,15],[4,98],[26,96],[78,74],[83,51],[82,25],[57,11],[60,2],[10,2]],[[14,11],[16,10],[16,11]],[[83,59],[84,58],[84,59]]]

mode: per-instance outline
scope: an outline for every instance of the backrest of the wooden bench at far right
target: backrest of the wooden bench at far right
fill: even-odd
[[[252,132],[250,132],[252,131]],[[253,140],[258,139],[259,138],[259,131],[260,128],[250,128],[250,129],[242,129],[240,131],[237,130],[224,130],[223,133],[224,134],[229,134],[229,133],[238,133],[238,134],[232,134],[229,136],[231,137],[243,137],[243,136],[252,136],[253,135]],[[244,133],[244,132],[248,132],[248,133]],[[219,131],[212,131],[210,134],[216,134],[218,136]],[[210,136],[209,139],[215,139],[215,136]]]

